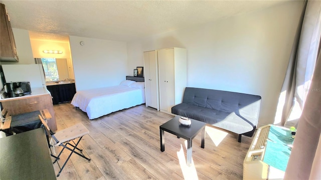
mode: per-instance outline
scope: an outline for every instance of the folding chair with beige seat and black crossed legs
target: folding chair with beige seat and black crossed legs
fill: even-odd
[[[80,155],[81,157],[87,159],[87,160],[90,160],[90,158],[86,157],[83,153],[82,153],[82,149],[79,149],[77,147],[77,145],[79,144],[82,136],[86,135],[89,133],[89,130],[82,124],[82,123],[77,123],[73,126],[70,126],[68,128],[65,128],[63,130],[60,130],[60,131],[57,131],[56,133],[54,133],[50,128],[49,126],[47,125],[46,121],[44,120],[44,118],[39,115],[39,118],[41,120],[41,122],[44,124],[44,126],[47,128],[47,130],[50,132],[52,138],[54,139],[54,146],[63,146],[63,148],[61,149],[61,151],[59,152],[58,156],[55,156],[51,153],[51,156],[55,157],[55,162],[58,163],[58,160],[59,160],[59,157],[61,155],[61,153],[63,152],[64,149],[68,149],[70,150],[70,154],[68,156],[68,158],[66,159],[65,163],[63,164],[62,167],[60,167],[59,163],[58,163],[58,166],[60,168],[60,171],[58,172],[57,174],[57,177],[60,175],[62,169],[65,167],[67,161],[69,160],[70,156],[72,153],[76,153],[78,155]],[[74,139],[78,138],[79,137],[79,140],[75,143],[74,142]],[[75,145],[69,143],[69,141],[73,141]],[[67,146],[67,145],[70,145],[71,147]],[[75,151],[75,150],[79,150],[79,152]]]

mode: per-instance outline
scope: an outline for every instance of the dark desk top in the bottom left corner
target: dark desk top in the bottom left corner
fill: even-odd
[[[0,138],[0,179],[56,179],[43,128]]]

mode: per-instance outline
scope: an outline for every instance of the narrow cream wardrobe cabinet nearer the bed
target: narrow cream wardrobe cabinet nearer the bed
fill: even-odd
[[[145,104],[159,110],[157,51],[144,52]]]

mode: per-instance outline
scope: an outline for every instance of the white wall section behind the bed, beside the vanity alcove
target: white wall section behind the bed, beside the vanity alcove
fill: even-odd
[[[69,36],[76,90],[118,85],[127,70],[126,42]],[[84,41],[84,45],[80,45]]]

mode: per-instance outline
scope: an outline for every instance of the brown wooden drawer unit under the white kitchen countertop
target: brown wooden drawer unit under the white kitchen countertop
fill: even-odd
[[[52,118],[48,120],[49,127],[57,130],[54,106],[50,94],[23,96],[20,98],[3,99],[2,107],[7,108],[11,115],[32,112],[35,110],[48,109]]]

